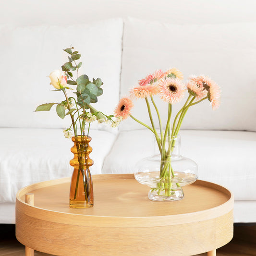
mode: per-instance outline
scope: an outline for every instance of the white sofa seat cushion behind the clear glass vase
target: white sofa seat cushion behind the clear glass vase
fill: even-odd
[[[235,200],[256,200],[256,133],[183,130],[181,154],[198,165],[198,179],[229,188]],[[149,130],[123,131],[105,159],[102,173],[133,173],[153,152]]]

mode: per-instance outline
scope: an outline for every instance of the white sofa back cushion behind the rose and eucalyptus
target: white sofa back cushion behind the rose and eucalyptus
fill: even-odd
[[[122,30],[121,19],[66,27],[0,27],[1,127],[70,126],[70,117],[61,120],[55,106],[49,112],[33,111],[43,103],[65,99],[62,92],[50,91],[54,87],[47,76],[68,61],[62,49],[71,45],[82,55],[79,75],[87,74],[90,80],[100,77],[104,83],[103,95],[93,106],[112,114],[119,100]],[[75,96],[73,91],[69,94]],[[92,128],[101,126],[95,123]]]

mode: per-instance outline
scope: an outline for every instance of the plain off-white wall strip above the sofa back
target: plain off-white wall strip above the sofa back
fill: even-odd
[[[127,16],[174,24],[251,22],[255,10],[255,0],[0,0],[0,25],[67,25]]]

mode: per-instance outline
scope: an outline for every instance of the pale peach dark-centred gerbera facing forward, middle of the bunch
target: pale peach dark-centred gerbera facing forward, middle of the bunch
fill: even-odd
[[[159,83],[160,98],[171,104],[177,103],[183,98],[185,89],[185,86],[178,78],[167,77]]]

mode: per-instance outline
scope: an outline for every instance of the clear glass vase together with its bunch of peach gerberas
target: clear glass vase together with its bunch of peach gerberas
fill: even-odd
[[[180,144],[179,131],[188,109],[192,106],[204,100],[209,100],[212,109],[215,110],[220,104],[220,88],[209,77],[205,75],[191,76],[186,84],[183,84],[182,80],[183,74],[176,68],[166,72],[157,70],[141,79],[138,86],[131,88],[130,95],[121,98],[115,109],[116,117],[122,117],[123,120],[131,117],[154,134],[159,150],[159,158],[153,157],[151,164],[147,163],[146,170],[135,173],[135,178],[140,183],[147,184],[152,188],[149,192],[151,200],[182,199],[183,191],[181,187],[195,182],[197,179],[195,162],[188,158],[181,158],[179,152],[175,152]],[[173,122],[171,122],[172,105],[180,102],[186,91],[188,97],[183,107],[174,117]],[[167,103],[168,116],[165,126],[162,124],[154,96],[159,96]],[[139,121],[131,114],[134,99],[145,100],[150,124]],[[157,132],[153,121],[152,108],[158,116],[160,133]],[[155,160],[157,159],[159,166],[155,171],[153,165],[156,164]],[[178,161],[175,162],[175,160]],[[152,171],[150,168],[154,170]]]

